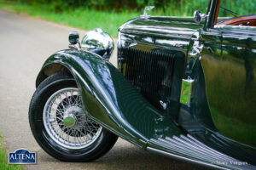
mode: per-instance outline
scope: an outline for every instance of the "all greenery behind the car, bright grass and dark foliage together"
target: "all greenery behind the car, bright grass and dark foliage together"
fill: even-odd
[[[207,13],[210,0],[0,0],[0,8],[29,14],[84,30],[102,28],[117,37],[119,26],[143,14],[146,6],[152,15],[193,16],[195,10]],[[256,0],[222,0],[224,8],[239,15],[256,14]],[[220,10],[219,16],[232,16]]]

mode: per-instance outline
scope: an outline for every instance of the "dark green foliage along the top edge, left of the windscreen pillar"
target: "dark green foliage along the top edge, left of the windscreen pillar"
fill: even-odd
[[[205,6],[207,0],[18,0],[20,3],[28,3],[30,5],[50,4],[49,7],[55,12],[73,8],[90,8],[101,11],[141,11],[145,6],[153,5],[159,9],[161,14],[168,11],[183,11],[189,14],[191,6]],[[181,4],[183,4],[181,6]],[[191,11],[193,12],[193,11]],[[179,13],[180,14],[180,13]]]

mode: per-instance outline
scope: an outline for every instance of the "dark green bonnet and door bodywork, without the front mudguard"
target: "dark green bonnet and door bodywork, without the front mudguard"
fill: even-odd
[[[200,24],[196,24],[191,18],[177,17],[130,20],[119,29],[118,48],[119,50],[121,48],[137,48],[144,51],[157,50],[160,53],[183,54],[185,63],[178,65],[176,70],[182,72],[183,78],[194,78],[195,84],[197,84],[195,88],[199,90],[199,93],[195,93],[188,109],[198,126],[195,127],[193,121],[189,122],[190,126],[187,125],[188,122],[180,121],[183,119],[182,112],[169,112],[169,115],[174,115],[172,120],[178,124],[186,122],[185,127],[188,131],[195,131],[196,128],[201,131],[201,126],[203,126],[213,132],[220,131],[230,139],[253,147],[256,143],[256,119],[254,118],[256,109],[253,105],[255,104],[254,98],[256,98],[254,90],[256,86],[253,85],[255,79],[253,58],[256,57],[255,32],[242,29],[239,31],[236,27],[236,31],[225,27],[213,28],[213,16],[217,3],[218,1],[210,3],[209,18]],[[193,47],[201,45],[204,46],[201,54],[195,54]],[[236,55],[235,58],[234,55]],[[199,56],[202,60],[196,62]],[[124,58],[124,56],[119,56],[119,61]],[[224,62],[224,60],[225,65],[221,65],[220,61]],[[232,62],[236,62],[237,66]],[[203,67],[200,69],[201,65]],[[227,65],[234,65],[233,69]],[[121,67],[122,64],[119,64],[119,68]],[[174,74],[177,75],[177,73]],[[201,77],[206,78],[206,82],[201,83],[203,87],[196,80]],[[177,82],[175,89],[178,93],[181,90],[180,86],[181,82]],[[251,88],[249,92],[248,86]],[[201,95],[206,89],[206,94]],[[245,97],[245,94],[248,97]],[[226,97],[221,97],[222,95]],[[187,97],[179,96],[179,94],[176,96],[178,99]],[[149,97],[148,100],[154,101],[154,95],[151,98]],[[159,108],[157,101],[151,103]]]

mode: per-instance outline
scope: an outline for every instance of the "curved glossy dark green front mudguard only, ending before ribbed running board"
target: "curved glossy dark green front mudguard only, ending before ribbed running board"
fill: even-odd
[[[56,64],[73,74],[88,116],[123,139],[145,148],[149,139],[182,133],[172,121],[161,116],[107,59],[82,50],[59,51],[45,61],[37,85],[44,79],[45,69]]]

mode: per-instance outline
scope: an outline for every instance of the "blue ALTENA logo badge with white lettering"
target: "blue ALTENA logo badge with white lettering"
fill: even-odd
[[[26,149],[9,152],[9,164],[34,164],[36,163],[36,152],[30,152]]]

